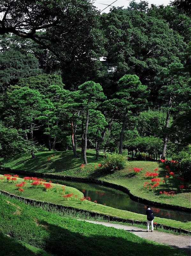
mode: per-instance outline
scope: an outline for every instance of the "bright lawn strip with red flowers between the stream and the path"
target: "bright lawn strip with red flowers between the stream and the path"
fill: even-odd
[[[0,175],[3,177],[3,175]],[[65,200],[61,195],[62,192],[62,185],[60,184],[53,184],[54,188],[50,191],[45,191],[43,188],[32,188],[31,183],[26,183],[26,187],[24,187],[24,192],[22,194],[19,193],[16,184],[19,184],[23,179],[18,178],[16,183],[7,182],[6,179],[0,182],[0,189],[7,191],[11,194],[16,196],[22,196],[25,198],[43,201],[53,204],[59,204],[63,206],[70,206],[77,209],[88,210],[92,212],[99,212],[101,214],[106,214],[122,219],[131,219],[131,220],[140,220],[145,221],[145,215],[138,214],[135,212],[128,212],[124,210],[115,209],[106,205],[96,204],[93,202],[89,202],[87,200],[81,201],[83,193],[79,190],[71,187],[66,187],[66,191],[64,194],[73,193],[77,195],[77,197],[73,196],[70,200]],[[56,189],[57,188],[57,189]],[[57,191],[60,191],[59,193]],[[170,220],[165,218],[155,217],[155,222],[160,223],[162,225],[171,226],[174,228],[182,228],[186,230],[191,230],[191,222],[181,222],[176,220]]]

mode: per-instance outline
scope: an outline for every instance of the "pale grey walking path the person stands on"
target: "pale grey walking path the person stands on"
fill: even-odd
[[[124,229],[126,231],[129,231],[136,236],[149,239],[151,241],[155,241],[161,244],[168,244],[170,246],[180,248],[191,255],[191,236],[186,235],[174,235],[166,232],[159,232],[157,230],[154,230],[151,232],[151,229],[149,232],[146,232],[146,228],[138,228],[134,226],[126,226],[121,224],[114,224],[111,222],[101,222],[101,221],[95,221],[95,220],[85,220],[87,222],[95,223],[95,224],[101,224],[107,227],[114,227],[119,229]]]

